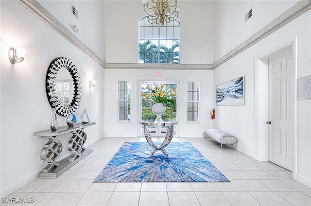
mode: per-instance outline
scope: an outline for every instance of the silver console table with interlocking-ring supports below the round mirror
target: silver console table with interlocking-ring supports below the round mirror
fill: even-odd
[[[66,172],[73,165],[81,161],[93,150],[85,149],[86,132],[84,128],[96,124],[95,122],[77,123],[74,126],[59,127],[58,130],[52,131],[51,129],[34,132],[34,136],[41,136],[48,138],[48,142],[43,146],[40,152],[40,158],[44,163],[48,163],[43,171],[39,174],[41,178],[56,178],[62,173]],[[72,133],[72,137],[67,144],[70,156],[57,162],[56,159],[61,154],[63,145],[56,136]]]

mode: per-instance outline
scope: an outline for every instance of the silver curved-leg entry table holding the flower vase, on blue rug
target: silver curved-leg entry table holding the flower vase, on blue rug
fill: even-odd
[[[169,155],[167,153],[167,150],[164,149],[166,146],[168,146],[170,144],[170,142],[173,139],[173,135],[174,135],[174,128],[175,125],[178,123],[178,121],[154,121],[154,122],[149,122],[149,121],[139,121],[139,124],[144,126],[144,135],[145,138],[148,142],[148,144],[153,147],[153,149],[150,151],[149,153],[149,158],[152,157],[152,155],[155,153],[155,151],[159,150],[162,151],[166,157],[169,158]],[[150,137],[150,132],[149,132],[149,127],[150,126],[156,126],[156,127],[160,127],[160,126],[164,126],[167,128],[166,130],[166,135],[165,138],[162,142],[162,144],[160,146],[157,146],[154,141],[152,140],[152,138]]]

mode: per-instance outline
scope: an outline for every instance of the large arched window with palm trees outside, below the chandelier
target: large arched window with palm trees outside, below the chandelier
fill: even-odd
[[[138,63],[179,64],[179,27],[178,19],[163,26],[139,19]]]

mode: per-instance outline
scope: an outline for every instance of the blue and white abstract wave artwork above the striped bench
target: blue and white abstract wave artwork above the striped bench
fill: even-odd
[[[217,105],[243,105],[244,104],[245,76],[216,85]]]

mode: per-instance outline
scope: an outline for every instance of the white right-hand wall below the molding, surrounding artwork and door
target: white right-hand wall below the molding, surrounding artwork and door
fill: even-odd
[[[266,1],[265,1],[266,2]],[[228,4],[230,2],[228,1]],[[218,13],[217,15],[222,15]],[[230,26],[230,21],[223,22],[222,27]],[[302,26],[303,25],[303,26]],[[217,31],[220,32],[220,31]],[[216,33],[217,33],[216,32]],[[249,32],[248,29],[237,30],[241,35]],[[213,88],[215,86],[245,76],[245,105],[215,106],[216,120],[214,128],[219,128],[239,138],[238,149],[245,154],[257,158],[257,138],[255,132],[255,58],[272,51],[297,36],[297,69],[296,81],[299,77],[311,74],[311,67],[307,62],[311,59],[311,11],[287,23],[274,33],[260,40],[245,51],[233,57],[223,65],[214,69]],[[222,40],[222,39],[220,39]],[[221,41],[222,42],[222,41]],[[224,43],[226,40],[224,40]],[[216,46],[219,46],[217,44]],[[231,44],[223,45],[230,48]],[[299,88],[299,87],[298,87]],[[294,97],[297,105],[297,180],[310,186],[311,184],[311,99],[301,100]],[[214,105],[216,101],[214,100]]]

